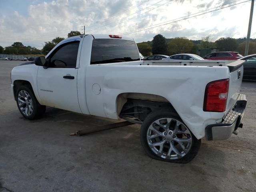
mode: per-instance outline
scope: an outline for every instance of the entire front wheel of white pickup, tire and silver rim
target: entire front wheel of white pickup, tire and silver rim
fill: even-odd
[[[46,110],[45,105],[40,105],[31,86],[19,86],[16,91],[16,103],[20,113],[26,119],[37,119],[42,117]]]

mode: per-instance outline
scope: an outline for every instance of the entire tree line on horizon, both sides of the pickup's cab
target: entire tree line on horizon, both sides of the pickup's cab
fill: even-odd
[[[79,31],[71,31],[68,37],[81,35]],[[40,50],[32,46],[24,46],[22,42],[14,42],[11,46],[3,48],[0,46],[0,54],[46,55],[56,44],[64,40],[62,37],[56,37],[52,41],[44,42],[44,47]],[[210,36],[203,37],[201,40],[189,40],[186,37],[176,37],[172,39],[165,38],[161,34],[154,36],[152,41],[137,43],[140,53],[144,56],[162,54],[173,55],[180,53],[197,54],[200,48],[218,48],[220,51],[236,51],[244,54],[246,38],[219,38],[215,42]],[[256,54],[256,39],[250,40],[249,53]]]

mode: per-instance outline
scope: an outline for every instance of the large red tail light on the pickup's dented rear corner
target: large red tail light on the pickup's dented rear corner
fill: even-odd
[[[229,79],[212,81],[206,85],[204,111],[224,112],[228,98]]]

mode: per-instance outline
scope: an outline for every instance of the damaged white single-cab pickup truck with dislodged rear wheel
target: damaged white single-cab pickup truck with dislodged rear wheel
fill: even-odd
[[[11,90],[25,118],[51,106],[140,123],[150,157],[186,163],[201,138],[228,139],[242,127],[243,62],[144,62],[131,38],[81,35],[14,67]]]

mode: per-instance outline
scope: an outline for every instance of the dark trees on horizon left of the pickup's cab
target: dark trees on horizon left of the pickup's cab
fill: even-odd
[[[81,35],[79,31],[71,31],[68,33],[68,37]],[[0,54],[11,54],[11,55],[46,55],[56,44],[64,40],[65,38],[56,37],[52,41],[44,42],[44,47],[40,50],[32,46],[24,46],[22,42],[14,42],[11,46],[3,48],[0,46]]]

